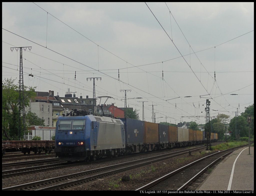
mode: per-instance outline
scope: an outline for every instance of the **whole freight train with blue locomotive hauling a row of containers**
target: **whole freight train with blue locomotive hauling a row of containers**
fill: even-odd
[[[56,156],[63,161],[95,160],[205,143],[205,132],[129,118],[61,116],[56,123]],[[211,133],[211,141],[218,140]]]

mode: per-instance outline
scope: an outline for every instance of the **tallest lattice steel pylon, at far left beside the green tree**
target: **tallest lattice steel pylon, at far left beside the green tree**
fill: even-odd
[[[22,49],[24,51],[28,48],[31,50],[31,46],[29,47],[15,47],[15,50],[19,49],[19,119],[18,119],[18,138],[20,140],[20,136],[22,134],[21,130],[23,130],[23,138],[25,140],[25,102],[24,102],[24,79],[23,79],[23,61],[22,61]],[[13,51],[14,48],[10,48]],[[21,119],[22,118],[22,119]],[[21,127],[21,125],[23,126]]]

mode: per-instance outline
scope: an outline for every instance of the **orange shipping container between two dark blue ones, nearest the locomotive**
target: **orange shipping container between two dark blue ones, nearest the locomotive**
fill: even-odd
[[[158,143],[158,124],[144,121],[144,143]]]

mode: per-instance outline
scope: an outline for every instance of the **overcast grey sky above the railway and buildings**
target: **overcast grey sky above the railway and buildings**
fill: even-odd
[[[254,103],[253,2],[3,2],[2,80],[18,84],[12,47],[32,47],[23,51],[24,85],[92,98],[87,78],[101,78],[96,97],[124,107],[127,90],[127,107],[142,120],[144,101],[149,122],[152,105],[156,122],[204,124],[206,99],[212,118]]]

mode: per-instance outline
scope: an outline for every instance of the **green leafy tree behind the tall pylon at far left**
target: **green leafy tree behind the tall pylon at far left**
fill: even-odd
[[[25,125],[21,123],[18,127],[19,118],[23,118],[19,114],[19,104],[28,107],[30,99],[36,95],[36,87],[24,86],[24,101],[20,102],[19,86],[14,82],[12,78],[2,81],[2,140],[19,140],[24,137]]]

